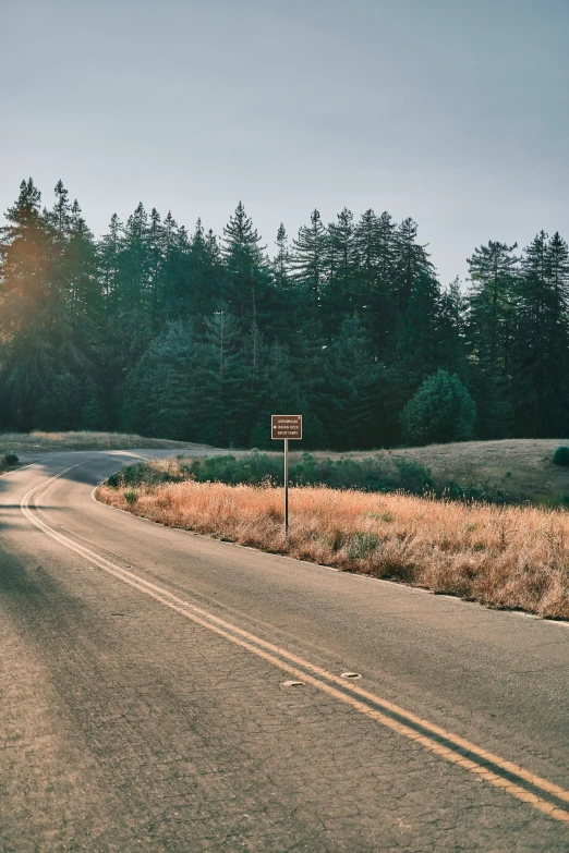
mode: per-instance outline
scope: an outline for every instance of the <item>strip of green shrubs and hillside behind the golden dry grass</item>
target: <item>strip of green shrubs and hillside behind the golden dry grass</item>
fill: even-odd
[[[289,480],[294,486],[382,492],[403,489],[453,500],[569,508],[569,471],[562,454],[559,462],[558,447],[555,439],[509,439],[373,453],[291,452]],[[280,486],[282,451],[178,456],[129,466],[117,477],[129,486],[183,479]]]

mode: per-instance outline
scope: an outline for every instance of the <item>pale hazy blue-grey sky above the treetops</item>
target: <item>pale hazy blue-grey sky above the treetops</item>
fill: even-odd
[[[569,0],[0,0],[0,209],[59,178],[274,248],[317,207],[413,217],[443,282],[569,240]]]

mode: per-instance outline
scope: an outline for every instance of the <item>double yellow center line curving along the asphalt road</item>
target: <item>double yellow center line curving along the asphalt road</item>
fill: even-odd
[[[203,608],[199,608],[190,601],[185,601],[184,599],[179,598],[172,593],[169,593],[167,589],[164,589],[160,586],[150,583],[149,581],[145,581],[144,578],[138,577],[128,569],[122,569],[121,566],[111,563],[109,560],[99,557],[94,551],[85,548],[82,545],[78,545],[77,543],[74,543],[69,537],[50,527],[48,524],[46,524],[46,522],[44,522],[31,511],[28,507],[29,499],[40,488],[48,486],[63,474],[66,474],[73,467],[77,467],[77,465],[72,465],[56,476],[44,480],[39,484],[39,486],[31,489],[22,499],[21,509],[23,514],[52,539],[94,563],[108,574],[111,574],[123,583],[126,583],[135,589],[145,593],[150,598],[154,598],[166,607],[169,607],[171,610],[174,610],[186,619],[191,619],[196,624],[213,631],[219,636],[225,637],[234,645],[246,649],[263,660],[266,660],[273,666],[279,668],[283,672],[294,675],[299,680],[307,682],[323,693],[326,693],[339,702],[351,706],[360,714],[363,714],[376,722],[382,723],[386,728],[391,729],[391,731],[395,731],[408,740],[413,741],[435,755],[438,755],[459,767],[463,767],[465,770],[469,770],[469,772],[474,773],[495,788],[500,788],[518,800],[521,800],[524,803],[530,803],[532,806],[534,806],[534,808],[537,808],[540,812],[543,812],[549,817],[553,817],[561,822],[569,824],[569,811],[559,808],[548,801],[543,800],[541,796],[537,796],[521,785],[516,784],[516,782],[495,772],[494,769],[484,767],[476,761],[464,757],[460,753],[452,750],[451,746],[441,744],[438,741],[433,740],[433,738],[417,732],[415,729],[407,726],[404,722],[394,720],[391,717],[382,712],[382,710],[371,708],[370,705],[367,705],[365,702],[362,702],[361,699],[372,702],[383,710],[396,714],[403,720],[407,720],[408,722],[415,726],[420,726],[423,730],[428,731],[432,734],[444,738],[452,746],[462,748],[469,752],[471,755],[475,755],[485,761],[492,763],[495,768],[497,767],[505,772],[512,773],[519,779],[523,779],[524,781],[529,782],[534,788],[537,788],[545,793],[553,794],[558,800],[562,800],[569,803],[569,791],[565,790],[564,788],[548,781],[547,779],[543,779],[542,777],[536,776],[529,770],[525,770],[523,767],[520,767],[513,761],[508,761],[505,758],[488,752],[487,750],[483,750],[464,738],[453,734],[452,732],[449,732],[446,729],[429,722],[428,720],[424,720],[411,711],[408,711],[404,708],[401,708],[398,705],[388,702],[387,699],[384,699],[374,693],[371,693],[362,687],[358,687],[356,685],[348,684],[343,679],[340,679],[338,675],[329,672],[323,667],[318,667],[317,665],[312,663],[304,658],[293,655],[287,649],[275,646],[274,644],[268,643],[267,641],[262,639],[261,637],[257,637],[247,631],[244,631],[238,625],[233,625],[230,622],[216,617],[214,613],[209,613],[207,610],[204,610]],[[302,669],[299,669],[298,667],[302,667]],[[310,672],[314,674],[311,675]],[[319,678],[315,678],[315,675],[319,675]],[[331,682],[331,684],[325,683],[320,681],[320,679],[326,679],[326,681]],[[341,686],[342,690],[337,690],[337,687],[332,686],[334,684]]]

